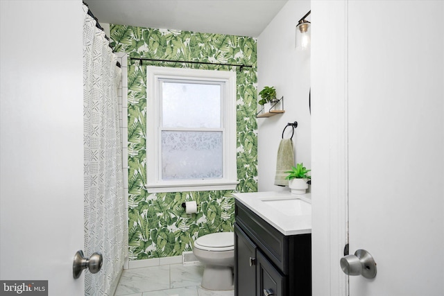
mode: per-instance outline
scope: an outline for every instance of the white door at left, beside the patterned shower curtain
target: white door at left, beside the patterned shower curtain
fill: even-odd
[[[72,275],[83,248],[81,2],[0,1],[0,12],[0,280],[84,295]]]

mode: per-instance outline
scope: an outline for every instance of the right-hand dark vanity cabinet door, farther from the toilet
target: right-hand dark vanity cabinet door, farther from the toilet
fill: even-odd
[[[257,250],[257,296],[287,296],[286,278]]]

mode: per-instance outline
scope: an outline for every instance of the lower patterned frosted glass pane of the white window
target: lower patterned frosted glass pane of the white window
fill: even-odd
[[[162,132],[162,180],[223,177],[222,132]]]

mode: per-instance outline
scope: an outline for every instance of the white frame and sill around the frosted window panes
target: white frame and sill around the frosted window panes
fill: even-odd
[[[236,72],[169,67],[146,67],[146,189],[149,193],[176,191],[233,190],[237,184],[236,159]],[[223,82],[223,177],[215,179],[162,180],[161,176],[161,105],[162,80],[198,80]]]

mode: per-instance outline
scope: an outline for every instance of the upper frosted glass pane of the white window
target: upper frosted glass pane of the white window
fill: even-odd
[[[164,128],[221,128],[221,85],[162,82]]]

